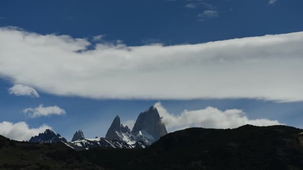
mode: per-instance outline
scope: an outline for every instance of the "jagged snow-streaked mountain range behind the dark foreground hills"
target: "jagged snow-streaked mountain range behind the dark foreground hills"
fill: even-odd
[[[67,142],[67,140],[59,134],[55,134],[51,130],[46,130],[44,133],[31,137],[29,142],[62,142],[77,151],[88,150],[94,147],[145,148],[166,134],[165,124],[161,121],[157,108],[151,106],[139,114],[132,130],[130,130],[127,125],[124,126],[121,124],[120,117],[117,115],[113,119],[105,138],[85,138],[84,133],[79,130],[75,132],[72,140]]]

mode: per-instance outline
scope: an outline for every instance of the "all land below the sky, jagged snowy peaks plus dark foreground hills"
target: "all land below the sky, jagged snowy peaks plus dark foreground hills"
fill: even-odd
[[[156,108],[130,130],[116,116],[105,138],[46,130],[29,142],[0,136],[0,169],[303,169],[303,130],[286,125],[189,128],[167,134]]]

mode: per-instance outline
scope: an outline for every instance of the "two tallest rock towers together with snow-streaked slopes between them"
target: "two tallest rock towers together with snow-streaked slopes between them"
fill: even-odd
[[[161,121],[158,110],[151,106],[148,110],[140,113],[132,131],[127,125],[124,127],[120,123],[120,117],[117,115],[113,119],[105,138],[125,141],[129,144],[142,141],[149,145],[166,134],[165,124]]]

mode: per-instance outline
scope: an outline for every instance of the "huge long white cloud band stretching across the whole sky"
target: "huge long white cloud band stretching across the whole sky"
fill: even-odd
[[[0,75],[89,98],[303,100],[303,32],[126,46],[0,28]],[[79,52],[82,51],[82,52]]]

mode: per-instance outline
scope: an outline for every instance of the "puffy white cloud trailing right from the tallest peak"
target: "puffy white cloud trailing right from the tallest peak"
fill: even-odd
[[[277,120],[268,119],[249,119],[247,115],[238,109],[220,111],[213,107],[207,107],[202,110],[187,111],[184,110],[180,115],[173,115],[161,105],[155,103],[162,121],[168,130],[176,131],[191,127],[228,129],[238,128],[241,125],[252,124],[257,126],[281,124]]]

